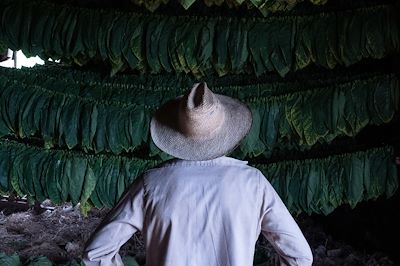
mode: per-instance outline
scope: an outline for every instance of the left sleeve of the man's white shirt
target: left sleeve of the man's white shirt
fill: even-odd
[[[143,195],[143,179],[140,178],[132,184],[86,243],[83,253],[85,265],[123,265],[118,254],[120,247],[143,227]]]

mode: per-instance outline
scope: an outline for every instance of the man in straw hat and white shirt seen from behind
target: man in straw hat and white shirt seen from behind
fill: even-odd
[[[123,265],[119,248],[142,231],[146,266],[250,266],[260,232],[282,265],[311,265],[310,247],[262,173],[226,157],[251,127],[239,101],[205,83],[162,106],[154,143],[179,158],[144,173],[87,243],[87,265]]]

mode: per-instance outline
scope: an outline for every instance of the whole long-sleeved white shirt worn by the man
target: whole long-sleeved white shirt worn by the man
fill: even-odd
[[[296,222],[262,175],[229,157],[172,160],[142,175],[88,241],[86,265],[123,265],[119,248],[142,231],[146,266],[251,266],[262,233],[282,265],[311,265]]]

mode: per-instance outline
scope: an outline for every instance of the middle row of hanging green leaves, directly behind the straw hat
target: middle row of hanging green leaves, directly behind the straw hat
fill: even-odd
[[[41,73],[0,71],[0,136],[36,136],[48,148],[94,153],[121,154],[147,147],[150,156],[167,158],[150,140],[151,115],[186,88],[92,83],[96,79],[74,82]],[[398,112],[398,74],[375,74],[335,85],[314,83],[309,82],[314,87],[295,81],[275,83],[283,94],[276,94],[273,84],[211,87],[239,98],[252,111],[253,125],[238,156],[269,157],[276,148],[305,150],[338,136],[355,136],[368,125],[389,123]]]

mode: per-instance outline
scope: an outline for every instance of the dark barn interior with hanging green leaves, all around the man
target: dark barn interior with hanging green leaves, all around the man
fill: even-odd
[[[83,265],[106,211],[171,159],[151,141],[152,114],[196,82],[252,111],[230,156],[271,182],[314,265],[400,264],[399,11],[397,0],[2,0],[0,265]],[[42,64],[18,65],[17,51]],[[34,221],[49,235],[76,226],[66,232],[79,241],[39,243]],[[125,265],[144,265],[140,236],[129,245]],[[275,264],[260,238],[254,265]]]

